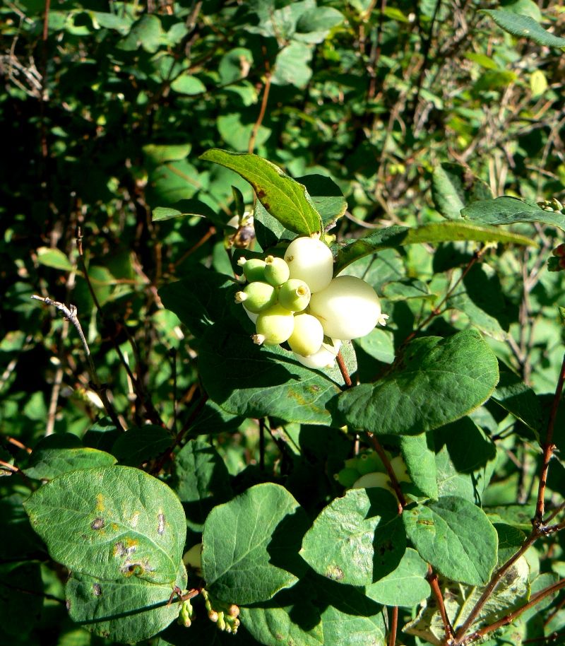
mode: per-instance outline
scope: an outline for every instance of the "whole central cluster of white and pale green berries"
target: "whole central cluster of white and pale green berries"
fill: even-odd
[[[309,368],[332,365],[342,341],[384,325],[375,290],[361,278],[333,278],[331,250],[316,237],[297,237],[285,257],[239,260],[248,284],[235,295],[255,322],[255,343],[288,342]]]

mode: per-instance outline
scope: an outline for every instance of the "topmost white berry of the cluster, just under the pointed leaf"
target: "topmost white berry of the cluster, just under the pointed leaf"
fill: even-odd
[[[314,237],[297,237],[288,245],[285,260],[290,278],[307,283],[311,293],[326,288],[333,276],[333,255],[329,247]]]

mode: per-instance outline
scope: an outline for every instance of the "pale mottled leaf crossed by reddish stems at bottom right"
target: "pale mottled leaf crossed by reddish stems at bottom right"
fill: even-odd
[[[499,585],[482,606],[469,633],[481,626],[488,626],[512,610],[523,606],[529,597],[528,574],[528,563],[525,558],[519,558],[502,577]],[[453,623],[453,627],[458,628],[468,618],[470,611],[484,592],[484,588],[453,585],[453,582],[446,581],[441,577],[439,585],[447,616]],[[446,633],[435,599],[428,599],[415,620],[410,621],[403,630],[409,635],[417,635],[436,646],[443,644]],[[506,640],[501,643],[516,644],[515,641]]]

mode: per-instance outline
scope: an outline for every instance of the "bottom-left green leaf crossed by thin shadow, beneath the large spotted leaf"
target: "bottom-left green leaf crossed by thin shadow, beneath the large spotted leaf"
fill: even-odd
[[[182,562],[174,584],[186,588]],[[73,572],[66,584],[66,604],[71,619],[95,635],[131,644],[153,637],[177,618],[179,604],[169,604],[171,593],[170,584],[136,577],[106,581]]]

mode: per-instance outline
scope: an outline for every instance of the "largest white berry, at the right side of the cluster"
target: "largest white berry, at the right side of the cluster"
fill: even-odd
[[[343,340],[369,334],[382,319],[375,290],[356,276],[333,278],[326,289],[312,294],[309,307],[324,334]]]

